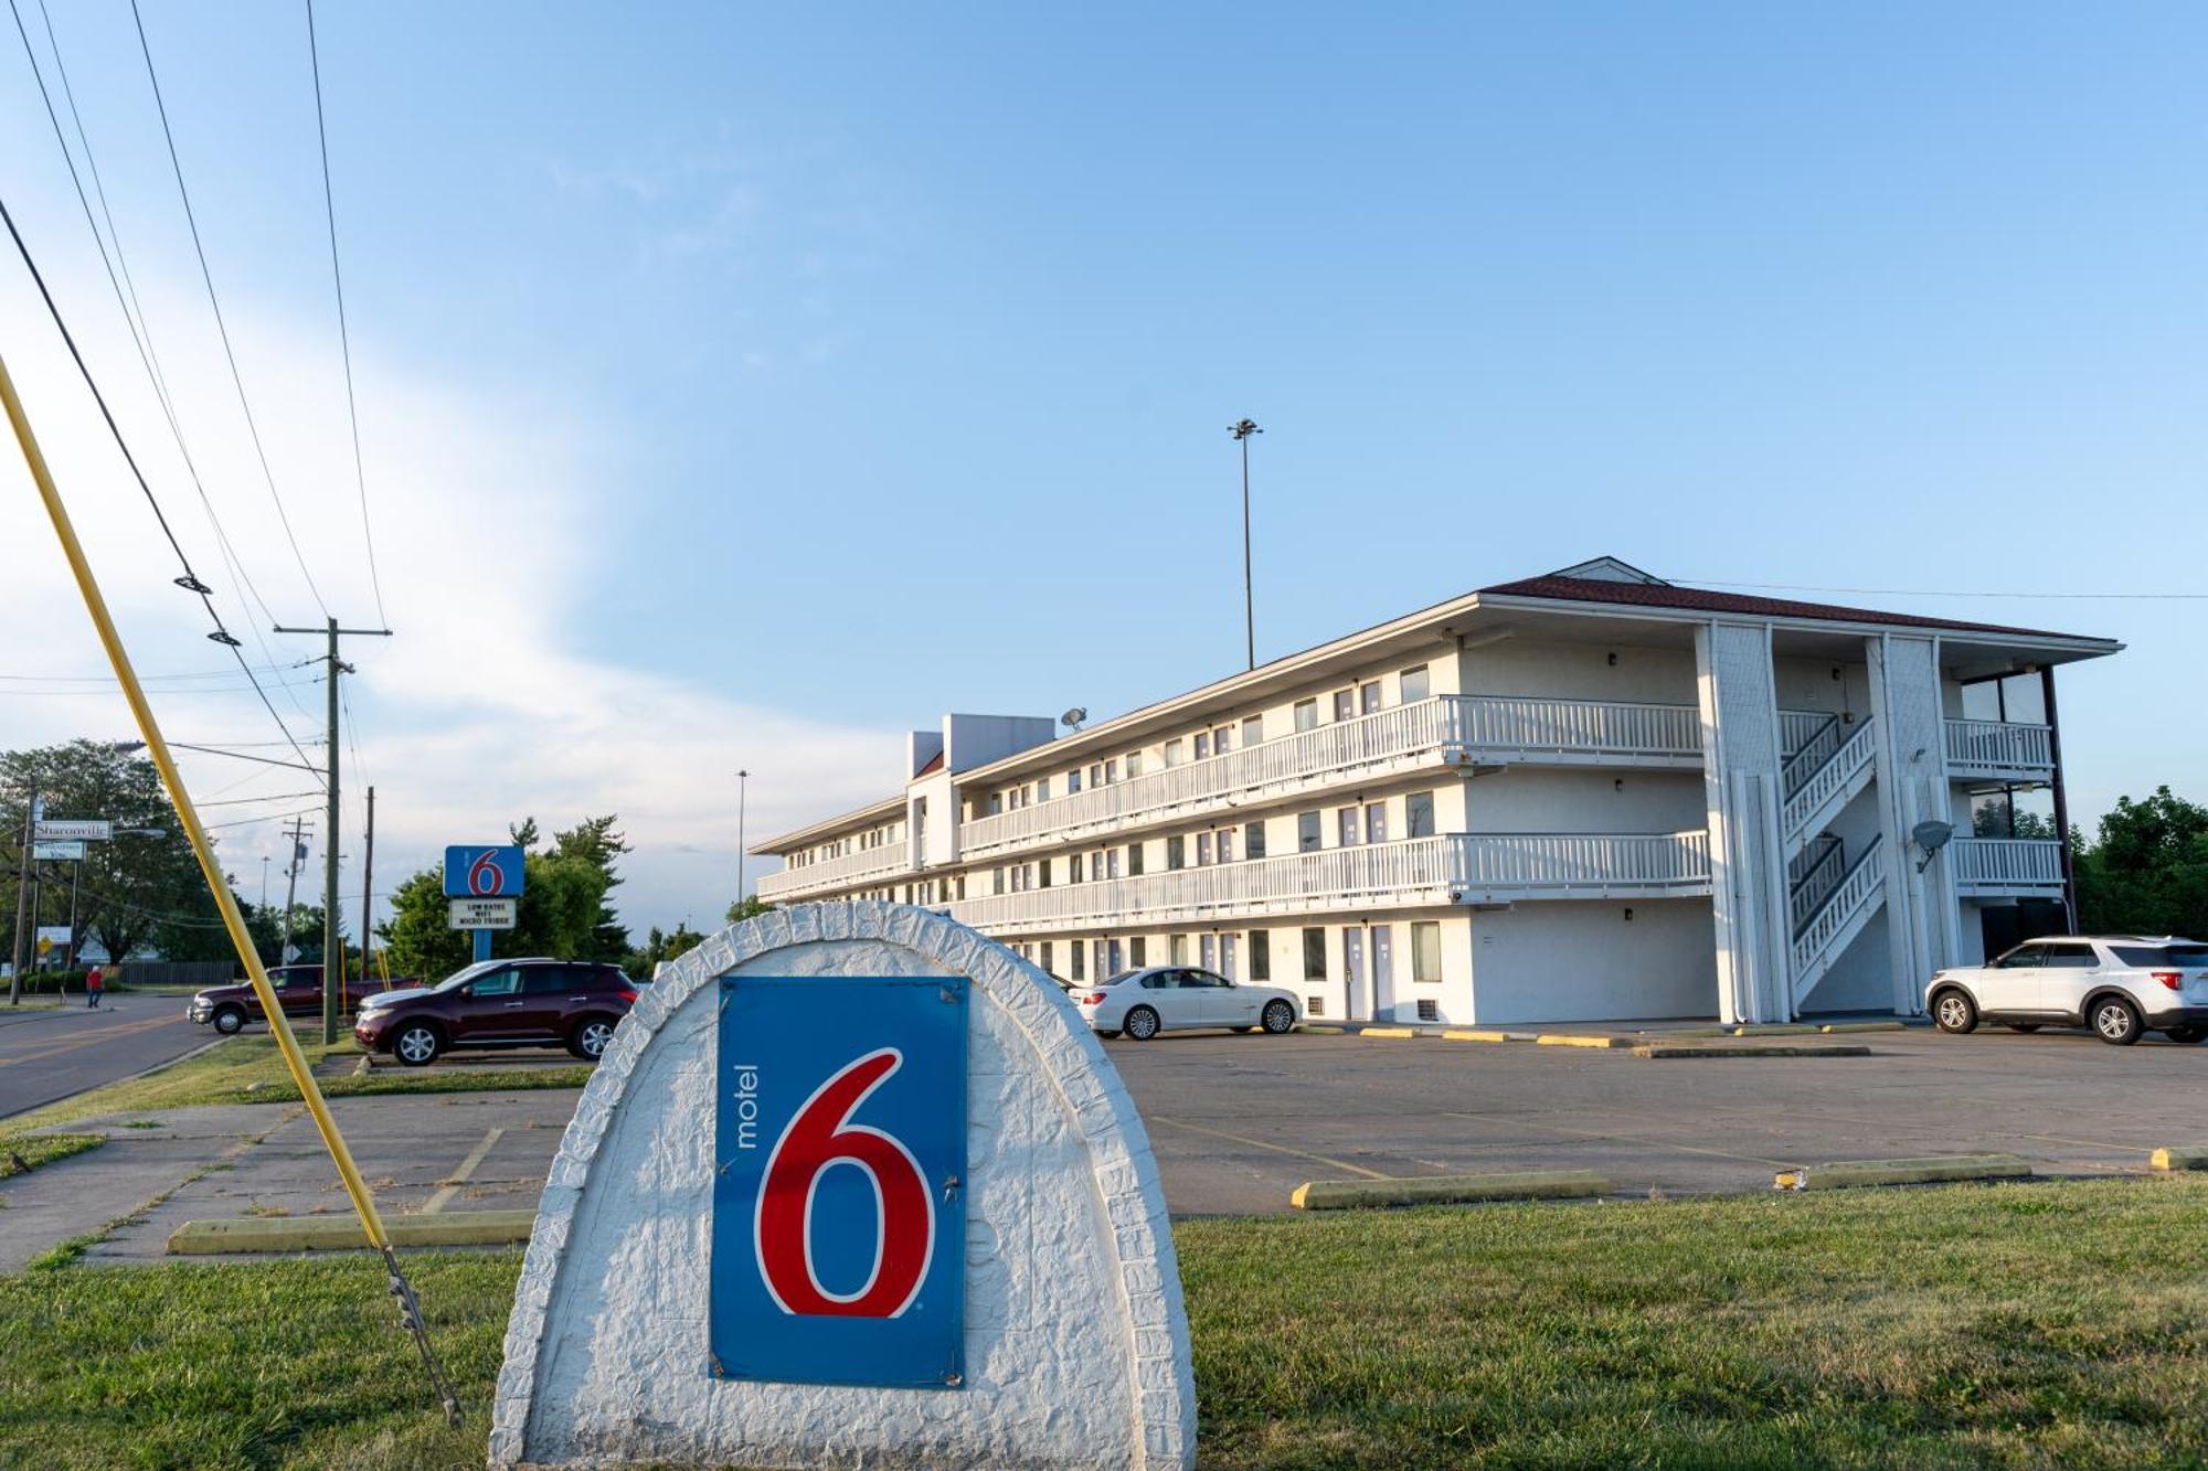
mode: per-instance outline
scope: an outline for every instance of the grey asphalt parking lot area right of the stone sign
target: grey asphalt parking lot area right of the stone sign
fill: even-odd
[[[1793,1164],[2005,1151],[2137,1171],[2208,1144],[2208,1049],[2082,1031],[1872,1031],[1861,1058],[1365,1036],[1106,1043],[1175,1213],[1270,1213],[1305,1179],[1594,1168],[1630,1193],[1769,1190]]]

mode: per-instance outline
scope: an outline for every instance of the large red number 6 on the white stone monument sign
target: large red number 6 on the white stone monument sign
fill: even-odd
[[[766,1157],[751,1239],[760,1277],[782,1312],[894,1319],[921,1292],[936,1248],[936,1202],[921,1164],[896,1137],[846,1122],[903,1060],[883,1047],[843,1067],[813,1091]],[[866,1171],[879,1206],[874,1268],[850,1294],[830,1292],[813,1270],[813,1190],[835,1164]]]

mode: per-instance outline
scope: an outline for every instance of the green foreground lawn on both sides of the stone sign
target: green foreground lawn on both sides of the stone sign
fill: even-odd
[[[2208,1182],[1175,1228],[1208,1467],[2208,1460]],[[0,1464],[481,1464],[519,1257],[0,1279]]]

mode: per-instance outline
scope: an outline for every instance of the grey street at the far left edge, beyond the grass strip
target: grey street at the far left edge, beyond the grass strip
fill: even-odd
[[[183,996],[124,992],[93,1012],[0,1005],[0,1118],[181,1058],[214,1040],[183,1016]]]

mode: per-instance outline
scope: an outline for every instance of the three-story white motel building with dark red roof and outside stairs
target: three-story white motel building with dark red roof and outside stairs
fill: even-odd
[[[757,892],[938,908],[1069,983],[1203,965],[1312,1018],[1908,1014],[2067,925],[2064,844],[2000,833],[2018,793],[2069,830],[2053,671],[2120,647],[1603,557],[1089,729],[945,716],[901,793],[755,846],[784,859]]]

